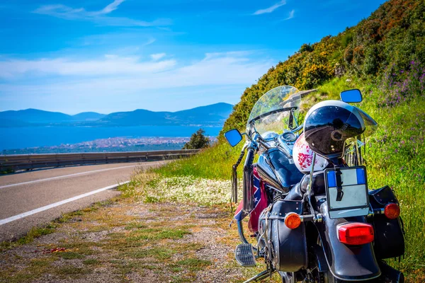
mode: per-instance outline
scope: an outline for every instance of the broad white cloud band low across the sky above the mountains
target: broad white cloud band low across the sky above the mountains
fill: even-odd
[[[135,57],[108,55],[106,59],[72,62],[67,59],[0,61],[3,97],[16,96],[127,96],[143,90],[179,87],[249,85],[272,65],[271,60],[254,60],[247,52],[205,54],[192,64],[174,60],[139,62]],[[52,75],[59,77],[51,80]],[[111,76],[112,75],[112,76]],[[38,78],[38,83],[14,82],[13,78]],[[47,79],[44,79],[46,76]],[[12,80],[10,80],[12,79]],[[53,82],[55,81],[55,82]]]

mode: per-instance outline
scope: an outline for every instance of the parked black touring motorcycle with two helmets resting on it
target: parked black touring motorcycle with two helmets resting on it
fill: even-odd
[[[246,152],[243,198],[234,215],[242,243],[234,255],[244,267],[259,258],[266,263],[246,282],[274,272],[283,283],[404,282],[385,262],[404,254],[399,202],[388,186],[368,189],[363,165],[365,136],[377,124],[348,104],[361,102],[361,92],[343,91],[341,100],[305,113],[308,93],[273,88],[254,105],[246,132],[225,133],[231,146],[246,137],[233,166],[232,202],[238,203],[236,172]],[[246,216],[254,243],[244,234]]]

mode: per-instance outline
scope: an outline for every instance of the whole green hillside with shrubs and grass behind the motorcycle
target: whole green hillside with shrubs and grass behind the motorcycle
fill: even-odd
[[[387,1],[358,25],[302,45],[285,62],[271,67],[258,83],[246,88],[218,144],[159,168],[157,173],[167,178],[229,180],[240,145],[232,149],[222,133],[244,129],[263,93],[281,85],[318,88],[306,98],[313,105],[338,99],[345,89],[359,88],[364,100],[358,106],[379,124],[366,145],[369,186],[390,185],[395,190],[406,230],[405,257],[400,262],[389,260],[390,264],[405,272],[407,282],[425,282],[425,220],[421,217],[425,214],[424,62],[425,1]]]

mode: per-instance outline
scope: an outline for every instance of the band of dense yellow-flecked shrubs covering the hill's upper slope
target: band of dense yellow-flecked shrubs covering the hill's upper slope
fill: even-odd
[[[375,79],[425,62],[425,1],[391,0],[369,18],[336,36],[300,47],[246,88],[220,133],[243,129],[256,100],[276,86],[313,88],[339,76]]]

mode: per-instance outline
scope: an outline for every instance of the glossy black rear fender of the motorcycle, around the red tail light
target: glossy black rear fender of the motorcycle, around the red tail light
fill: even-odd
[[[314,225],[329,265],[329,271],[341,280],[365,280],[379,277],[381,272],[373,253],[372,243],[361,246],[347,246],[337,236],[336,226],[346,222],[366,223],[364,216],[330,219],[326,197],[317,202],[322,222]]]

